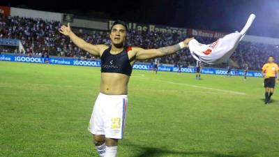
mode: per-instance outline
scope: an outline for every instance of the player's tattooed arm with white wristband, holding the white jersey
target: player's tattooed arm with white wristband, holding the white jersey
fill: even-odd
[[[188,43],[193,38],[187,38],[183,40],[183,42],[178,43],[176,45],[167,46],[167,47],[160,47],[158,49],[148,49],[144,50],[140,47],[135,47],[134,50],[136,51],[136,59],[143,60],[143,59],[152,59],[155,57],[163,57],[169,54],[174,54],[175,52],[182,50],[185,47],[188,47]]]

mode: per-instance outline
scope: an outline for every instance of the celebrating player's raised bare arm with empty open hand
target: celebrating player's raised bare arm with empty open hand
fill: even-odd
[[[60,33],[63,33],[65,36],[70,37],[70,40],[77,45],[77,47],[80,47],[82,50],[85,50],[94,56],[100,56],[100,52],[103,52],[107,48],[106,45],[92,45],[90,43],[86,43],[82,38],[79,38],[78,36],[73,33],[70,29],[70,23],[68,23],[68,26],[65,25],[61,26],[59,29]]]

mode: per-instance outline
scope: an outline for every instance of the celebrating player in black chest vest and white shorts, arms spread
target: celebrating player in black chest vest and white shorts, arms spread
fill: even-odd
[[[86,43],[71,31],[70,24],[59,31],[82,50],[101,59],[100,94],[93,107],[89,131],[101,157],[115,157],[118,140],[122,139],[125,128],[126,107],[128,103],[128,82],[133,63],[137,60],[164,57],[188,47],[193,38],[187,38],[176,45],[144,50],[140,47],[126,47],[128,27],[116,21],[110,31],[111,45],[92,45]]]

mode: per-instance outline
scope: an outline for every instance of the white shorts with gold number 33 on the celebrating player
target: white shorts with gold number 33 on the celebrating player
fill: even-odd
[[[95,102],[89,131],[93,135],[122,139],[125,127],[127,95],[106,95],[100,93]]]

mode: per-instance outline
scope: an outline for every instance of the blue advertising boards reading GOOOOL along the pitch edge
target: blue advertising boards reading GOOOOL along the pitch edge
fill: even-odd
[[[94,61],[83,61],[73,58],[59,58],[59,57],[26,57],[20,55],[10,55],[10,54],[1,54],[0,61],[17,61],[25,63],[49,63],[49,64],[61,64],[61,65],[70,65],[70,66],[93,66],[100,67],[100,60]],[[150,63],[135,63],[133,69],[137,70],[151,70],[153,66]],[[168,72],[178,72],[179,68],[174,66],[161,65],[158,66],[159,71],[168,71]],[[194,67],[181,68],[181,73],[195,73]],[[227,70],[222,68],[202,68],[202,73],[204,74],[213,74],[213,75],[227,75]],[[243,70],[232,70],[231,75],[243,75]],[[262,73],[259,71],[248,71],[247,76],[249,77],[262,77]]]

